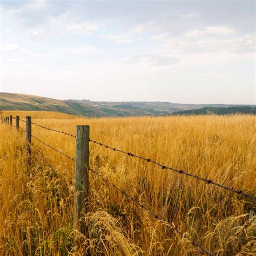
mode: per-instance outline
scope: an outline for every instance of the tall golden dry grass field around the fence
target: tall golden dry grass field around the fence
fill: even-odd
[[[90,125],[91,139],[256,193],[254,116],[67,119],[48,114],[31,116],[35,123],[72,134],[76,125]],[[0,134],[2,255],[201,255],[191,242],[93,173],[85,217],[88,232],[74,247],[73,162],[32,140],[32,166],[27,170],[24,133],[0,124]],[[32,134],[75,156],[74,138],[37,126]],[[253,200],[99,145],[90,144],[90,166],[212,254],[255,255]]]

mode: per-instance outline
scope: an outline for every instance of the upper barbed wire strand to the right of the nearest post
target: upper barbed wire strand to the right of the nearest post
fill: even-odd
[[[106,149],[110,149],[110,150],[113,150],[113,151],[117,151],[117,152],[120,152],[120,153],[127,154],[127,155],[130,156],[130,157],[136,157],[136,158],[145,160],[145,161],[147,161],[147,163],[156,164],[156,165],[158,165],[159,167],[161,167],[161,169],[167,169],[167,170],[171,170],[171,171],[173,171],[173,172],[177,172],[177,173],[179,173],[179,174],[184,174],[185,176],[190,176],[190,177],[196,178],[196,179],[198,179],[198,180],[205,181],[206,184],[212,184],[212,185],[215,185],[215,186],[224,188],[225,190],[231,191],[232,193],[240,194],[240,196],[244,196],[244,197],[250,198],[250,199],[252,199],[252,200],[256,200],[256,197],[255,197],[255,196],[251,196],[250,194],[246,194],[246,193],[242,192],[242,190],[234,190],[233,188],[230,188],[230,187],[227,187],[227,186],[223,186],[223,185],[221,185],[221,184],[219,184],[219,183],[215,183],[215,182],[212,181],[211,179],[205,179],[205,178],[199,177],[199,176],[197,176],[197,175],[195,175],[195,174],[185,172],[185,171],[183,171],[183,170],[173,169],[172,167],[165,166],[165,165],[163,165],[163,164],[157,163],[156,161],[153,161],[153,160],[151,160],[150,158],[140,157],[140,156],[137,156],[136,154],[133,154],[133,153],[131,153],[131,152],[125,152],[125,151],[123,151],[123,150],[116,149],[115,147],[110,147],[110,146],[105,145],[105,144],[103,144],[103,143],[96,142],[96,140],[91,140],[91,139],[90,139],[90,142],[95,143],[95,144],[98,144],[98,145],[100,145],[100,146],[104,146],[104,147],[106,147]]]

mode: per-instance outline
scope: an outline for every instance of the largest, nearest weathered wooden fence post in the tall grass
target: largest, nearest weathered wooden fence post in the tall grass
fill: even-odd
[[[86,211],[89,192],[89,139],[90,126],[78,125],[76,132],[75,202],[73,225],[85,234],[85,222],[81,219]],[[75,238],[75,237],[74,237]]]

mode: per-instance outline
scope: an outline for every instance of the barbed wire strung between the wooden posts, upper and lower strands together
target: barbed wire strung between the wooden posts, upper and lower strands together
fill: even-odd
[[[18,116],[17,116],[17,117],[18,117]],[[16,119],[16,118],[14,118],[14,119]],[[4,120],[7,120],[7,122],[5,122],[5,123],[9,123],[9,122],[8,122],[9,118],[4,119]],[[25,122],[25,123],[26,123],[26,121],[23,120],[23,119],[19,119],[19,120],[21,120],[22,122]],[[42,126],[42,125],[39,125],[39,124],[36,124],[36,123],[32,123],[32,122],[31,122],[31,124],[37,125],[37,126],[43,128],[43,129],[46,129],[46,130],[50,130],[50,131],[55,131],[55,132],[63,133],[63,134],[65,134],[65,135],[68,135],[68,136],[71,136],[71,137],[75,137],[75,138],[76,138],[75,135],[72,135],[72,134],[67,133],[67,132],[58,131],[58,130],[55,130],[55,129],[50,129],[50,128],[48,128],[48,127],[45,127],[45,126]],[[79,126],[77,126],[77,129],[78,129],[78,127],[79,127]],[[20,127],[20,128],[21,128],[21,127]],[[21,130],[24,131],[22,128],[21,128]],[[24,132],[27,132],[27,131],[24,131]],[[72,157],[70,157],[70,156],[67,156],[67,155],[64,154],[63,152],[60,152],[60,151],[57,150],[55,147],[52,147],[51,145],[49,145],[49,144],[43,142],[41,139],[38,139],[38,138],[36,138],[36,137],[33,136],[33,135],[31,135],[31,137],[34,138],[34,139],[36,139],[36,140],[38,140],[38,142],[42,143],[43,145],[50,147],[50,149],[56,151],[57,153],[62,154],[62,155],[65,156],[66,158],[69,158],[70,160],[75,161],[74,158],[72,158]],[[161,169],[167,169],[167,170],[171,170],[171,171],[177,172],[177,173],[179,173],[179,174],[184,174],[184,175],[186,175],[186,176],[190,176],[190,177],[196,178],[196,179],[198,179],[198,180],[205,181],[206,184],[212,184],[212,185],[215,185],[215,186],[219,186],[219,187],[221,187],[221,188],[224,188],[225,190],[231,191],[231,192],[233,192],[233,193],[237,193],[237,194],[239,194],[240,196],[245,196],[245,197],[248,197],[248,198],[250,198],[250,199],[252,199],[252,200],[256,200],[256,197],[254,197],[254,196],[251,196],[251,195],[249,195],[249,194],[246,194],[246,193],[242,192],[241,190],[240,190],[240,191],[233,190],[233,188],[229,188],[229,187],[223,186],[223,185],[221,185],[221,184],[215,183],[215,182],[212,181],[211,179],[201,178],[201,177],[199,177],[199,176],[196,176],[196,175],[194,175],[194,174],[185,172],[185,171],[183,171],[183,170],[173,169],[172,167],[162,165],[162,164],[158,163],[157,161],[153,161],[153,160],[151,160],[150,158],[144,158],[144,157],[137,156],[136,154],[133,154],[133,153],[131,153],[131,152],[125,152],[125,151],[123,151],[123,150],[119,150],[119,149],[116,149],[116,148],[114,148],[114,147],[111,147],[111,146],[105,145],[105,144],[103,144],[103,143],[97,142],[96,140],[91,140],[90,138],[89,138],[89,140],[88,140],[88,142],[87,142],[87,143],[88,143],[87,146],[89,146],[89,142],[98,144],[98,145],[100,145],[100,146],[104,146],[104,147],[106,147],[107,149],[110,149],[110,150],[113,150],[113,151],[117,151],[117,152],[120,152],[120,153],[124,153],[124,154],[126,154],[126,155],[128,155],[128,156],[130,156],[130,157],[135,157],[135,158],[139,158],[139,159],[145,160],[145,161],[147,161],[147,163],[156,164],[156,165],[158,165],[159,167],[161,167]],[[86,146],[86,145],[85,145],[85,146]],[[77,153],[77,152],[76,152],[76,153]],[[77,159],[76,159],[76,161],[77,161]],[[53,169],[53,167],[52,167],[47,161],[45,161],[45,163],[48,164],[48,165]],[[54,169],[53,169],[53,170],[54,170]],[[91,172],[93,172],[93,173],[95,173],[95,174],[96,174],[98,177],[100,177],[103,181],[105,181],[106,183],[108,183],[109,185],[111,185],[112,187],[114,187],[117,191],[119,191],[120,193],[122,193],[123,196],[125,196],[127,199],[129,199],[130,201],[132,201],[134,204],[136,204],[136,205],[140,206],[141,208],[143,208],[145,211],[147,211],[147,212],[148,212],[150,215],[152,215],[154,218],[158,219],[159,221],[161,221],[161,222],[164,223],[165,225],[168,225],[168,226],[172,227],[174,231],[176,231],[178,234],[180,234],[180,235],[181,235],[182,237],[184,237],[185,239],[189,240],[193,246],[200,248],[200,250],[201,250],[202,252],[206,253],[207,255],[212,255],[210,252],[206,251],[202,246],[200,246],[199,244],[196,244],[196,242],[194,242],[193,240],[191,240],[190,238],[188,238],[186,234],[180,232],[173,224],[167,223],[166,221],[164,221],[163,219],[161,219],[158,215],[156,215],[155,213],[153,213],[149,208],[145,207],[142,203],[140,203],[139,201],[137,201],[136,199],[134,199],[133,197],[131,197],[129,194],[127,194],[124,190],[120,190],[120,188],[118,188],[116,185],[113,185],[112,183],[110,183],[110,181],[107,180],[104,176],[102,176],[102,174],[100,174],[99,172],[97,172],[97,171],[95,171],[95,170],[92,170],[92,169],[90,169],[90,168],[88,168],[88,170],[91,171]]]

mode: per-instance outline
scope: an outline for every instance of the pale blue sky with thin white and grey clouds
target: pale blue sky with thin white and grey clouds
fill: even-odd
[[[1,1],[0,91],[255,104],[254,1]]]

